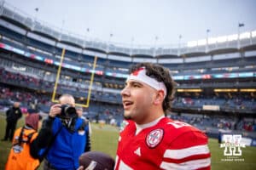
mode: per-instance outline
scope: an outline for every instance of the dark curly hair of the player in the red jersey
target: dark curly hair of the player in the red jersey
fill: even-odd
[[[129,74],[131,74],[134,71],[137,71],[141,67],[146,68],[146,74],[148,77],[152,77],[158,82],[165,83],[167,94],[162,106],[165,113],[167,111],[170,111],[172,106],[172,100],[174,99],[176,82],[172,80],[169,70],[163,67],[162,65],[152,63],[139,63],[137,65],[131,66]]]

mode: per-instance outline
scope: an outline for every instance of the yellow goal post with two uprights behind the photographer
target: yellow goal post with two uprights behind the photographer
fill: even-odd
[[[57,86],[58,86],[60,75],[61,75],[61,67],[62,67],[64,55],[65,55],[65,48],[62,49],[60,65],[59,65],[57,75],[56,75],[56,80],[55,80],[55,88],[54,88],[54,91],[53,91],[52,97],[51,97],[51,101],[55,102],[55,103],[59,102],[59,100],[55,99],[55,94],[56,94],[56,91],[57,91]],[[86,104],[85,105],[84,104],[76,104],[78,106],[82,106],[82,107],[86,108],[86,107],[89,107],[89,105],[90,105],[90,93],[91,93],[91,88],[92,88],[94,74],[95,74],[96,61],[97,61],[97,56],[95,56],[95,58],[94,58],[93,70],[92,70],[92,73],[91,73],[91,76],[90,76],[90,86],[89,86],[88,96],[87,96],[87,99],[86,99]]]

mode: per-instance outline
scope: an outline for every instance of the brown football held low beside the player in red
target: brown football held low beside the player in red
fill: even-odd
[[[88,170],[113,170],[114,160],[102,152],[89,151],[79,157],[79,165]]]

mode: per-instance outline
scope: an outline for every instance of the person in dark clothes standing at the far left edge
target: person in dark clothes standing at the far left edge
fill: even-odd
[[[9,108],[8,111],[6,111],[6,129],[5,129],[5,135],[2,141],[12,141],[16,129],[16,125],[20,117],[22,116],[22,113],[20,111],[20,103],[15,102],[14,105]]]

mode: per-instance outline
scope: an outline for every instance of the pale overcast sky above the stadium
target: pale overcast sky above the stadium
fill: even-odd
[[[173,46],[256,30],[256,0],[5,0],[62,31],[102,42]],[[35,10],[38,8],[38,11]],[[207,33],[207,30],[208,33]]]

